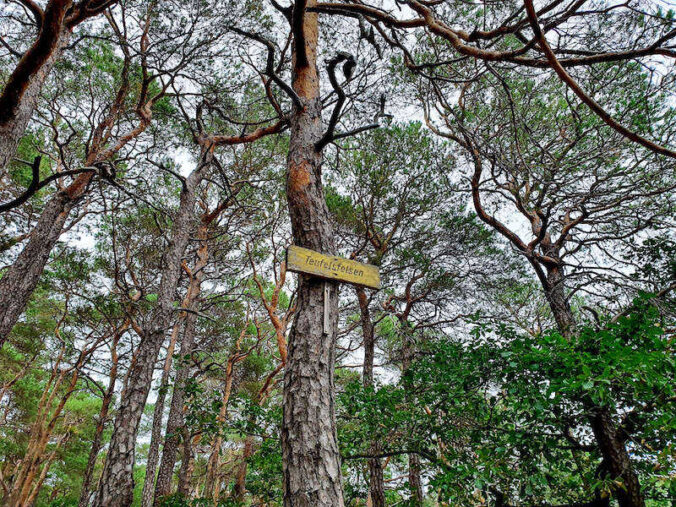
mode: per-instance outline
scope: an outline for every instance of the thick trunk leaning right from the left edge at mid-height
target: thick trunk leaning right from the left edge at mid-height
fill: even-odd
[[[28,243],[0,279],[0,348],[26,308],[71,210],[87,193],[92,178],[93,173],[81,174],[52,196]]]

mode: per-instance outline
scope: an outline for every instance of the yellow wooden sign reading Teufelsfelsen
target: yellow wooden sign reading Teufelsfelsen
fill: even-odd
[[[380,273],[376,266],[324,255],[299,246],[291,245],[286,250],[286,269],[328,280],[380,289]]]

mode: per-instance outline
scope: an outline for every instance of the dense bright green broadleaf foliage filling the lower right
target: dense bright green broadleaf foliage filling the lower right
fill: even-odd
[[[385,452],[418,452],[433,469],[430,485],[451,504],[495,491],[518,503],[583,501],[614,479],[598,473],[600,456],[588,445],[591,407],[607,407],[631,424],[647,497],[666,505],[676,356],[648,296],[570,340],[506,326],[472,334],[465,344],[429,343],[398,385],[348,385],[343,454],[367,452],[371,439]]]

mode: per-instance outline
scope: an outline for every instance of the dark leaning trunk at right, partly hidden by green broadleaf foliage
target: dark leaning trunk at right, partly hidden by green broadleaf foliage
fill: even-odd
[[[545,295],[559,331],[563,336],[570,338],[574,333],[576,322],[566,297],[562,269],[557,266],[547,271]],[[621,486],[613,489],[613,496],[620,507],[645,507],[638,476],[615,427],[610,410],[607,407],[599,407],[590,399],[583,400],[583,403],[605,468],[613,479],[622,482]]]

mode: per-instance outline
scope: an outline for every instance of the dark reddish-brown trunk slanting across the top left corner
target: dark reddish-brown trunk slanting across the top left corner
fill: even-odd
[[[7,167],[26,131],[42,85],[68,44],[66,13],[73,0],[51,0],[42,16],[40,32],[23,54],[0,94],[0,171]]]

